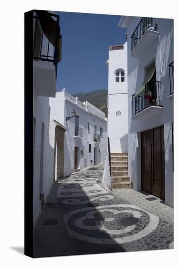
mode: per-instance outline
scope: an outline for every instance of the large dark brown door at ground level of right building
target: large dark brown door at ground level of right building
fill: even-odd
[[[141,133],[141,188],[165,198],[163,126]]]

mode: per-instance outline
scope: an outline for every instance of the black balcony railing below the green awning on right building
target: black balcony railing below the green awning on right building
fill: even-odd
[[[160,105],[160,85],[161,82],[150,80],[145,84],[145,91],[139,96],[132,95],[132,115],[136,115],[150,106]]]

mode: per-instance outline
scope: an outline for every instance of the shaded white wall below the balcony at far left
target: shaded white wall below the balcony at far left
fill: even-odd
[[[33,177],[33,219],[34,224],[41,211],[40,194],[40,155],[41,155],[41,125],[45,125],[44,129],[44,152],[43,152],[43,192],[45,198],[49,193],[49,189],[53,182],[53,170],[50,166],[50,159],[54,153],[53,147],[49,142],[49,121],[50,106],[49,97],[37,96],[34,88],[34,114],[36,118],[35,127],[35,143],[34,143],[34,177]],[[38,152],[39,148],[39,153]]]

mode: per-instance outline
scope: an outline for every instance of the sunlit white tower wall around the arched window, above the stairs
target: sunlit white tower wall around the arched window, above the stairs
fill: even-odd
[[[108,59],[108,136],[111,153],[128,151],[127,42],[123,50],[109,51]],[[123,69],[125,81],[116,82],[115,72]],[[121,115],[116,115],[117,111]]]

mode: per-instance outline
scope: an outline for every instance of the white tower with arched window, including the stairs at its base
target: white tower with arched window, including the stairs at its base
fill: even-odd
[[[110,189],[131,188],[128,176],[127,42],[109,46],[107,66],[110,152],[108,149],[103,182]]]

